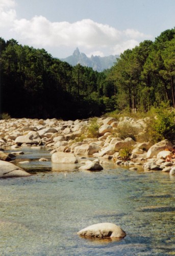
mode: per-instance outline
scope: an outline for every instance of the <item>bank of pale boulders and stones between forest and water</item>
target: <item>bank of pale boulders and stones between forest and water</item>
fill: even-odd
[[[103,164],[113,159],[116,164],[128,165],[137,169],[142,164],[145,171],[162,170],[174,175],[172,157],[173,144],[163,140],[155,145],[144,141],[147,119],[135,120],[123,117],[119,120],[108,117],[98,118],[99,137],[86,138],[85,133],[90,120],[63,121],[53,119],[9,119],[0,120],[0,147],[8,145],[12,150],[23,146],[31,146],[40,150],[45,146],[52,154],[53,163],[77,163],[78,157],[91,156],[94,160],[82,165],[80,169],[102,170]],[[131,137],[121,139],[118,130],[125,130],[128,125],[135,131],[135,140]],[[84,136],[84,137],[83,137]],[[119,151],[124,147],[132,147],[130,161],[122,161]],[[22,154],[19,150],[7,155],[0,149],[0,160],[11,161],[14,154]],[[99,159],[104,159],[105,161]],[[46,159],[47,160],[47,159]],[[45,160],[45,161],[46,161]],[[41,161],[41,160],[40,160]],[[42,160],[43,161],[43,160]],[[131,166],[132,165],[132,166]],[[133,166],[134,165],[134,166]],[[171,171],[172,170],[172,171]]]

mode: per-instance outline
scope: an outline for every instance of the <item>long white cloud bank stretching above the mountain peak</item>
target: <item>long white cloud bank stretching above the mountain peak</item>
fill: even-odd
[[[120,54],[138,45],[139,41],[151,38],[134,29],[120,31],[91,19],[74,23],[50,22],[44,16],[18,19],[14,8],[14,0],[0,0],[0,28],[7,27],[9,35],[11,33],[20,44],[46,50],[80,47],[88,56],[106,56]]]

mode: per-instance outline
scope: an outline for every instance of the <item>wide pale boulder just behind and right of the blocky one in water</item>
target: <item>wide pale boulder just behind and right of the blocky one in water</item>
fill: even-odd
[[[76,155],[93,155],[101,148],[97,145],[83,144],[74,148],[74,154]]]

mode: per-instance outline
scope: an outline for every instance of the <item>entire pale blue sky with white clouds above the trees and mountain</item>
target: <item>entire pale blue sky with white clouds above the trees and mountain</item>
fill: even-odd
[[[175,26],[175,0],[0,0],[0,37],[65,58],[118,55]]]

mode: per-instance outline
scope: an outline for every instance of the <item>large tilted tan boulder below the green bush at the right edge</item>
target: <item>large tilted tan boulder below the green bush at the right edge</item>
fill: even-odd
[[[173,144],[169,140],[162,140],[149,148],[146,157],[152,158],[164,150],[172,151],[172,147]]]

